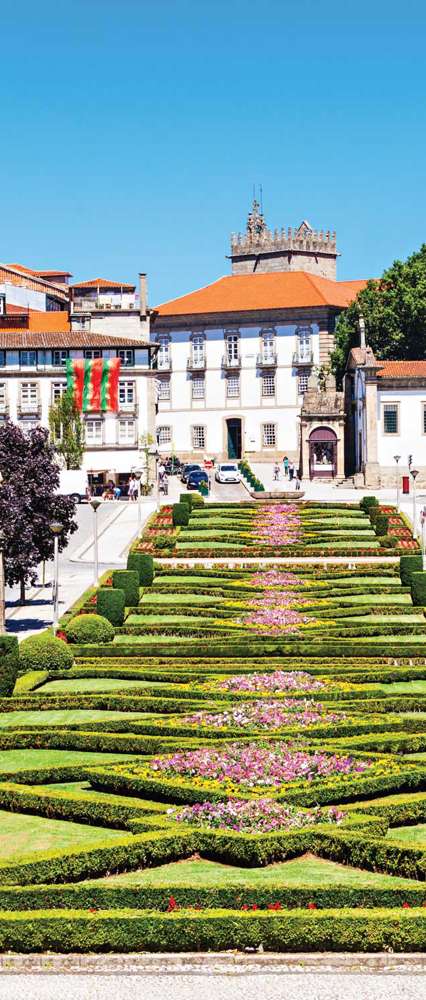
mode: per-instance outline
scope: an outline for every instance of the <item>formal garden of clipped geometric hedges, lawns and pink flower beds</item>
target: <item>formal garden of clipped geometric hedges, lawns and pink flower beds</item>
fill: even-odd
[[[1,950],[423,950],[407,525],[368,503],[177,506],[187,523],[163,508],[57,637],[0,638]],[[325,551],[348,559],[304,558]]]

